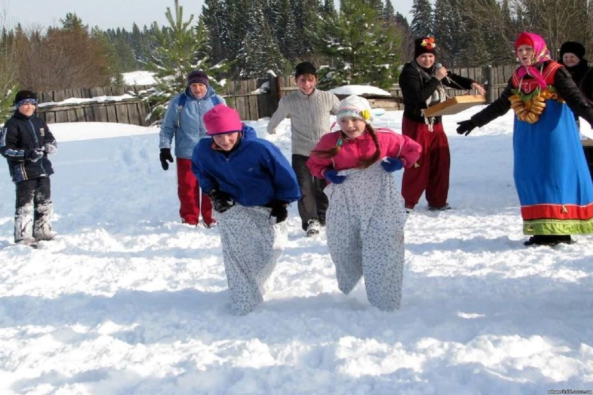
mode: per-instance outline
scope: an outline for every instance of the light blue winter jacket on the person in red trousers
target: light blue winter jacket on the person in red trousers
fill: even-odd
[[[177,127],[178,105],[181,96],[186,97],[186,103],[181,110],[180,127]],[[175,136],[175,156],[178,158],[191,159],[192,152],[197,142],[206,137],[203,116],[216,104],[225,104],[224,99],[215,94],[211,86],[208,86],[206,94],[196,99],[189,87],[185,92],[177,95],[169,102],[165,117],[161,124],[159,148],[171,148],[173,136]]]

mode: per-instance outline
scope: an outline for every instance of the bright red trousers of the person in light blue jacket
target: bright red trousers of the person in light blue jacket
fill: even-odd
[[[206,225],[212,223],[212,202],[205,193],[200,194],[200,185],[192,172],[192,160],[177,158],[177,195],[181,207],[179,215],[184,223],[197,225],[200,217],[200,195],[202,195],[202,219]]]

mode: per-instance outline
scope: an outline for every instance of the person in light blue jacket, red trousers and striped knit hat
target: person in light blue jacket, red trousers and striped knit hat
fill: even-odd
[[[175,156],[177,167],[177,195],[180,201],[181,221],[190,225],[199,224],[200,211],[206,227],[212,227],[212,204],[210,199],[192,174],[192,152],[196,144],[206,137],[203,123],[204,114],[224,99],[215,94],[208,83],[206,73],[195,70],[187,75],[187,88],[169,102],[162,121],[160,142],[160,160],[163,170],[169,168],[167,162],[173,162],[171,144],[175,137]],[[200,197],[202,203],[200,204]]]

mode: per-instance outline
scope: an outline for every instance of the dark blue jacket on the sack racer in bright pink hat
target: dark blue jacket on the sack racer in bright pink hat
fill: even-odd
[[[192,171],[205,192],[227,192],[242,205],[265,205],[273,200],[298,200],[301,192],[290,163],[274,144],[258,139],[243,124],[238,146],[227,156],[201,140],[193,150]]]

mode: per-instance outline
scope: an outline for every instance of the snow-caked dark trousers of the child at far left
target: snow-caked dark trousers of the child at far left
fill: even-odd
[[[14,242],[41,238],[52,231],[52,194],[49,177],[17,182],[14,213]]]

